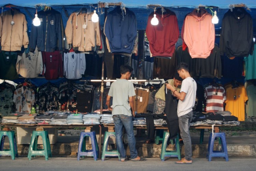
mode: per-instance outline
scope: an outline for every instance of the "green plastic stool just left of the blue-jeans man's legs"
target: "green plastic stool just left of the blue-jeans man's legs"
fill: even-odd
[[[115,132],[108,132],[108,131],[105,132],[104,143],[103,143],[103,148],[102,148],[102,156],[101,156],[102,161],[104,161],[106,156],[118,157],[118,159],[120,160],[120,154],[118,153],[117,150],[109,150],[108,151],[108,144],[109,144],[110,136],[116,137]]]

